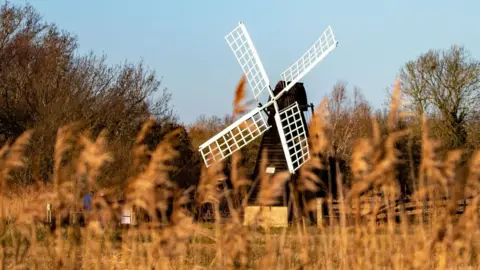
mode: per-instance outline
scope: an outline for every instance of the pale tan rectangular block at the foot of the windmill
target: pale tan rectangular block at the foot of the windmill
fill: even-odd
[[[262,208],[262,212],[257,216]],[[247,206],[243,224],[261,227],[288,227],[288,208],[286,206]]]

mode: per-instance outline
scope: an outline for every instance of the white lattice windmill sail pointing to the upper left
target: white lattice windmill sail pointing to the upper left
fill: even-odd
[[[232,32],[225,36],[225,40],[242,67],[255,99],[258,101],[258,96],[265,89],[271,92],[267,73],[245,25],[240,22]]]

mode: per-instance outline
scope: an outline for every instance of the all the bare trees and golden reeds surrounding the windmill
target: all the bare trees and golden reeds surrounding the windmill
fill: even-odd
[[[112,67],[78,55],[75,38],[30,6],[4,4],[0,19],[2,268],[480,267],[480,65],[465,48],[407,62],[388,110],[336,84],[310,119],[312,158],[298,180],[260,175],[260,205],[275,203],[286,185],[295,191],[291,226],[275,229],[243,225],[258,142],[208,169],[197,151],[242,112],[244,80],[231,116],[183,126],[142,63]],[[336,194],[314,173],[329,166]],[[85,226],[61,226],[88,190],[105,196],[94,197]],[[315,201],[304,195],[319,191],[340,211],[315,225],[305,218]],[[430,207],[412,211],[402,200]],[[55,228],[45,223],[47,203]],[[205,204],[211,224],[197,219]],[[120,227],[125,206],[150,222]]]

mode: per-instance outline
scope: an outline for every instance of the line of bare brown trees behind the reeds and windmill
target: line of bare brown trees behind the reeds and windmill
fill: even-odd
[[[29,5],[2,5],[0,10],[0,144],[28,129],[34,130],[28,149],[27,170],[17,172],[13,186],[51,181],[53,149],[60,127],[75,123],[92,136],[107,132],[114,161],[106,166],[101,184],[124,184],[134,174],[131,149],[147,119],[154,128],[144,138],[154,148],[169,131],[182,129],[183,142],[173,174],[182,187],[198,183],[203,162],[198,146],[234,121],[231,115],[199,116],[183,125],[171,104],[162,79],[143,62],[108,65],[93,52],[80,55],[71,33],[45,22]],[[421,157],[422,118],[441,141],[443,152],[462,148],[466,157],[480,141],[480,62],[463,46],[429,50],[405,63],[398,78],[402,108],[411,112],[398,126],[409,126],[409,136],[397,147],[404,154],[399,179],[405,192],[415,188]],[[232,91],[233,92],[233,91]],[[391,98],[387,92],[387,102]],[[339,81],[326,95],[332,125],[331,157],[351,163],[357,139],[372,136],[372,118],[382,135],[388,126],[388,108],[374,109],[362,91],[349,91]],[[242,149],[246,173],[253,172],[260,140]],[[226,170],[229,169],[227,162]],[[345,184],[352,179],[345,173]]]

